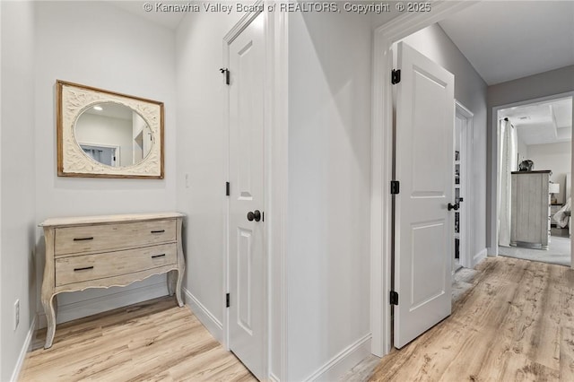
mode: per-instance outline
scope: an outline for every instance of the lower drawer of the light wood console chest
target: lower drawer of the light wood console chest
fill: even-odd
[[[173,243],[94,255],[59,257],[56,259],[56,286],[174,265],[178,261],[177,254],[177,245]]]

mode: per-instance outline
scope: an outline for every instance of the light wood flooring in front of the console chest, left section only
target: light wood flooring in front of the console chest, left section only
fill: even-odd
[[[57,326],[54,345],[36,334],[21,381],[255,381],[189,308],[145,301]]]

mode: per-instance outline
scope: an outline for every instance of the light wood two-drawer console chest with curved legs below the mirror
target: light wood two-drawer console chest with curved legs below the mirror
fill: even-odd
[[[42,305],[48,320],[45,348],[56,333],[57,294],[126,286],[168,273],[168,291],[178,305],[185,260],[181,213],[85,216],[48,219]]]

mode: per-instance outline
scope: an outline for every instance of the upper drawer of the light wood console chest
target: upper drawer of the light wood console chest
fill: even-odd
[[[55,230],[55,256],[176,241],[176,221],[138,221]]]

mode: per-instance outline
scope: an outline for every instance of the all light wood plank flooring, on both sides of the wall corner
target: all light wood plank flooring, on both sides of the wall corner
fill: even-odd
[[[476,271],[452,315],[380,360],[371,381],[574,381],[574,270],[490,257]],[[44,335],[22,381],[255,380],[171,298],[58,325],[48,350]]]

